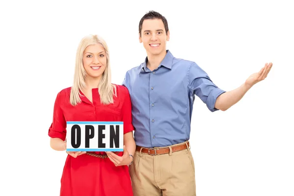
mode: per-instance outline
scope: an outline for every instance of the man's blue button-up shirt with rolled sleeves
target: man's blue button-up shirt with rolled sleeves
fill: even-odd
[[[225,91],[195,62],[175,58],[169,50],[156,70],[146,63],[147,57],[123,81],[132,101],[136,145],[166,147],[189,140],[195,95],[214,112]]]

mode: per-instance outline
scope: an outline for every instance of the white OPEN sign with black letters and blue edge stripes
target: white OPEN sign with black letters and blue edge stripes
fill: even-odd
[[[67,151],[123,151],[123,122],[67,122]]]

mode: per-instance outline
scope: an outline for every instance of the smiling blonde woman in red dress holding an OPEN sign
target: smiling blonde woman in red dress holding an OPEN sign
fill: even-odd
[[[133,196],[128,165],[136,145],[130,96],[127,88],[111,84],[108,48],[97,35],[81,40],[73,86],[56,97],[49,128],[54,150],[66,150],[67,121],[123,122],[125,147],[118,154],[68,151],[60,196]]]

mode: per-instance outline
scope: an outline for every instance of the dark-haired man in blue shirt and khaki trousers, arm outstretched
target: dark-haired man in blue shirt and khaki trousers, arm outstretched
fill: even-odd
[[[135,196],[196,196],[195,168],[190,151],[190,121],[195,95],[212,112],[237,103],[272,63],[253,73],[239,88],[218,88],[195,62],[166,50],[168,22],[150,11],[139,23],[139,41],[147,57],[129,70],[123,85],[132,101],[136,152],[129,171]]]

